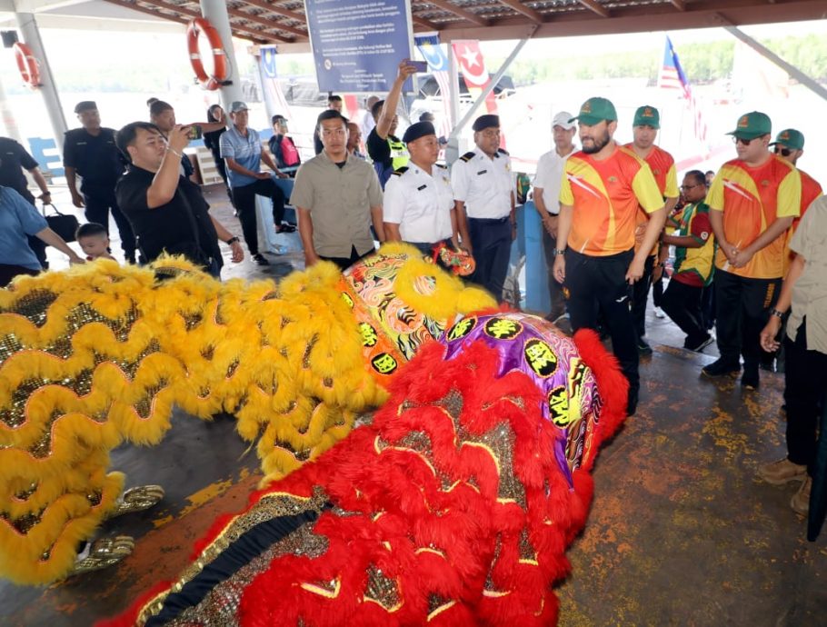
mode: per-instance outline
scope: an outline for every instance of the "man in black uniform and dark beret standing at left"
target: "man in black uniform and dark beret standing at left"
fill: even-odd
[[[91,100],[76,104],[75,114],[83,126],[67,131],[64,139],[64,167],[72,203],[85,207],[86,220],[103,224],[107,231],[111,210],[126,261],[135,264],[135,235],[115,200],[115,184],[125,168],[124,157],[115,146],[115,129],[101,126],[97,104]],[[83,179],[80,193],[77,175]]]

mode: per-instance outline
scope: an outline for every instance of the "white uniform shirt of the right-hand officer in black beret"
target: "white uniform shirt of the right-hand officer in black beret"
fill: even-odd
[[[451,170],[454,200],[465,203],[470,218],[503,218],[511,214],[511,194],[516,180],[511,157],[499,152],[490,158],[479,148],[463,154]]]

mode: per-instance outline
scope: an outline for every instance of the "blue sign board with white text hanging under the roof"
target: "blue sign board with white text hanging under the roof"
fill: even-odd
[[[390,91],[400,62],[411,57],[409,1],[305,0],[304,12],[319,91]]]

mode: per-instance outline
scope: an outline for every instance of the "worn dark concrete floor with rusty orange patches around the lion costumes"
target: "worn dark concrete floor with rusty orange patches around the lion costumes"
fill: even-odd
[[[223,191],[209,196],[240,234]],[[224,278],[277,279],[302,265],[301,254],[272,259],[265,268],[228,263]],[[784,453],[782,375],[762,373],[752,393],[734,379],[704,379],[713,347],[710,356],[673,348],[683,334],[651,312],[648,329],[654,354],[641,364],[641,403],[596,465],[592,514],[568,552],[573,574],[557,590],[560,624],[827,624],[827,533],[806,542],[805,521],[789,507],[797,484],[754,477]],[[0,583],[0,623],[89,625],[172,577],[214,517],[242,508],[261,476],[233,429],[229,417],[181,414],[160,445],[116,450],[113,467],[129,485],[166,489],[153,510],[104,529],[134,535],[135,553],[45,589]]]

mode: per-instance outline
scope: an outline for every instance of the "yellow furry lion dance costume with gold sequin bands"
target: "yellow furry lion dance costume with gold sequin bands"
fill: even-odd
[[[109,451],[158,443],[174,405],[234,414],[271,481],[383,403],[427,336],[493,305],[404,244],[278,286],[221,284],[173,258],[19,278],[0,290],[0,576],[72,572],[123,490]]]

